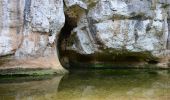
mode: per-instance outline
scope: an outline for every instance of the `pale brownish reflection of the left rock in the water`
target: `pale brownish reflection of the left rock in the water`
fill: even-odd
[[[57,93],[62,78],[56,76],[42,81],[0,84],[0,100],[28,100],[34,96],[45,97]]]

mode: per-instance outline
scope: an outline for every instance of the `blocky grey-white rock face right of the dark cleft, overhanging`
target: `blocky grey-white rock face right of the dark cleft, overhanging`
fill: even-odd
[[[160,66],[168,66],[170,0],[65,0],[65,2],[70,18],[79,14],[77,27],[68,38],[72,43],[67,46],[68,50],[82,55],[93,55],[105,50],[149,52],[148,56],[159,58],[159,62],[166,62]],[[76,12],[73,8],[83,11]]]

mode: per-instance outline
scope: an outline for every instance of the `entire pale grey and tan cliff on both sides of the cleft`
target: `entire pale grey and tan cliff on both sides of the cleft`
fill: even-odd
[[[57,43],[62,28],[68,41]],[[0,1],[0,56],[13,55],[2,69],[64,70],[57,44],[80,55],[147,52],[167,67],[170,0]]]

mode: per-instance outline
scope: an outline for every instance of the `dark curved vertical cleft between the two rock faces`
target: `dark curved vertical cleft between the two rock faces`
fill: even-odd
[[[60,63],[66,69],[69,67],[69,62],[68,62],[69,52],[67,51],[66,47],[67,47],[68,39],[71,36],[71,32],[75,27],[77,27],[76,19],[70,17],[67,13],[65,13],[65,24],[59,34],[57,48],[58,48]]]

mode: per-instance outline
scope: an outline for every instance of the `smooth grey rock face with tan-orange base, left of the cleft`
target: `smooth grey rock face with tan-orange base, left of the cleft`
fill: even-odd
[[[56,49],[64,22],[62,0],[1,0],[0,56],[14,55],[1,68],[64,70]]]

